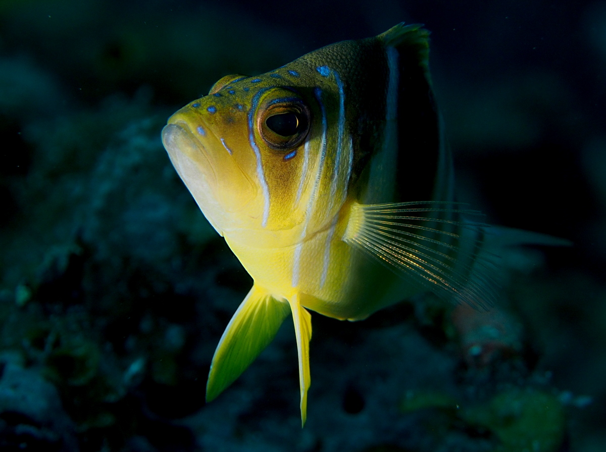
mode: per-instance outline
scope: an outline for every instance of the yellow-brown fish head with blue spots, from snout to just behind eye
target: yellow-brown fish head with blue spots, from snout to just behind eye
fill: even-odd
[[[320,161],[328,141],[318,90],[313,74],[286,67],[256,78],[226,76],[168,119],[164,147],[219,234],[286,246],[316,226],[314,212],[325,213],[326,202],[311,202],[328,197],[333,176],[329,159]]]

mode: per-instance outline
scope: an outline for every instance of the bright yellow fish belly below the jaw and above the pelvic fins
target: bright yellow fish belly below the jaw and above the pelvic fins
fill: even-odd
[[[305,308],[328,317],[362,320],[418,292],[418,285],[341,240],[344,225],[298,245],[254,248],[225,240],[255,285],[276,299],[298,296]]]

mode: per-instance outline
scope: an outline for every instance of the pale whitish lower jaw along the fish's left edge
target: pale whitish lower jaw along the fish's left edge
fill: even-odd
[[[162,144],[208,222],[223,235],[219,225],[221,205],[214,196],[218,191],[218,181],[207,150],[184,123],[166,125],[162,129]]]

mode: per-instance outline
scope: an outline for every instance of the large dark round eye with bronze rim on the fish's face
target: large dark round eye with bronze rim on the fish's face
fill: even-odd
[[[310,127],[310,111],[301,99],[278,99],[271,102],[257,117],[259,135],[274,150],[298,147]]]

